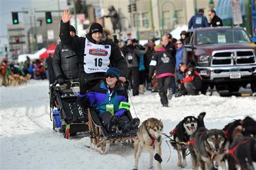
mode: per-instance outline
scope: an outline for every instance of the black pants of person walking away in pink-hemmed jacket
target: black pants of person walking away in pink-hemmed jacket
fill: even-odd
[[[167,98],[167,89],[172,88],[172,83],[174,82],[173,76],[168,76],[164,78],[158,79],[158,94],[160,95],[161,103],[168,104],[168,98]]]

